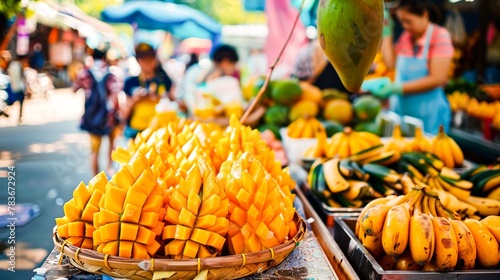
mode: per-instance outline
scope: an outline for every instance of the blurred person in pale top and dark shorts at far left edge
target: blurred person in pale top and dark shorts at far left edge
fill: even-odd
[[[10,87],[12,94],[9,95],[9,104],[14,104],[19,101],[19,119],[21,123],[23,116],[24,93],[26,92],[26,82],[24,79],[24,68],[28,66],[27,57],[19,56],[11,61],[7,68],[7,73],[10,77]]]

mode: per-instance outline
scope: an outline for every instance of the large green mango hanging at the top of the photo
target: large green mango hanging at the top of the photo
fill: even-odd
[[[321,0],[318,39],[345,88],[357,93],[382,41],[383,0]]]

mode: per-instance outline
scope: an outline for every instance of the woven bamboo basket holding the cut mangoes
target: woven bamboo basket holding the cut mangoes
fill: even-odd
[[[295,213],[297,234],[287,242],[260,252],[203,259],[149,260],[127,259],[81,249],[64,242],[54,231],[53,240],[62,255],[75,267],[95,274],[125,279],[236,279],[263,272],[280,264],[290,255],[306,234],[306,223]],[[204,279],[203,277],[202,279]]]

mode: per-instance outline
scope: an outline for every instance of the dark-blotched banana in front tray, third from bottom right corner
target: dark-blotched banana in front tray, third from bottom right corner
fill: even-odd
[[[440,271],[451,271],[458,261],[457,237],[450,222],[443,217],[432,217],[436,236],[435,264]]]

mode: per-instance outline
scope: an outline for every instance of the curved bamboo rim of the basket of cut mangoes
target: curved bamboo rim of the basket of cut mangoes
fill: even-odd
[[[307,226],[304,218],[299,216],[297,212],[294,214],[294,221],[297,224],[297,233],[293,238],[283,244],[268,248],[259,252],[244,253],[238,255],[226,255],[210,258],[195,258],[175,260],[167,258],[151,258],[151,259],[129,259],[118,256],[111,256],[99,253],[91,249],[76,247],[66,243],[58,235],[56,227],[52,239],[55,247],[62,255],[67,256],[71,260],[76,260],[80,263],[86,263],[92,266],[106,267],[108,269],[128,269],[128,270],[143,270],[143,271],[200,271],[204,269],[217,269],[226,267],[244,267],[247,264],[263,263],[274,261],[276,259],[286,258],[298,246],[307,232]],[[139,264],[144,266],[148,264],[149,269],[143,269]]]

